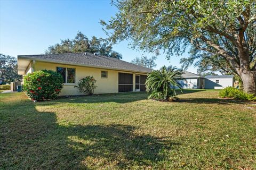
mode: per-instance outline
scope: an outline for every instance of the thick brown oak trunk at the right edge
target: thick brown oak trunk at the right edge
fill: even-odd
[[[248,94],[256,94],[256,71],[243,71],[241,73],[244,92]]]

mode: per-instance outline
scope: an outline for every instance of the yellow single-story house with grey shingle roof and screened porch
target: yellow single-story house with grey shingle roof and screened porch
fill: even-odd
[[[143,66],[91,53],[18,55],[18,74],[39,70],[59,72],[64,81],[60,95],[82,95],[75,86],[88,75],[95,78],[94,94],[145,91],[147,73]]]

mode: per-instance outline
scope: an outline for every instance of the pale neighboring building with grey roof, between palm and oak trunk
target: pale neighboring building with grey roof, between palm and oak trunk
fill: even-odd
[[[182,77],[183,89],[223,89],[228,86],[233,87],[234,75],[207,75],[201,77],[198,74],[185,71]]]

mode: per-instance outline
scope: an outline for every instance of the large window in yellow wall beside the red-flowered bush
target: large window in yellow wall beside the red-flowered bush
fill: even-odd
[[[75,69],[57,67],[57,72],[63,77],[63,83],[75,83]]]

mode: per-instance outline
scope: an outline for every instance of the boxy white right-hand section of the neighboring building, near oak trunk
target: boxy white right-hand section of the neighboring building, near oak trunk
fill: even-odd
[[[205,89],[223,89],[233,87],[234,75],[207,75],[205,76]]]

